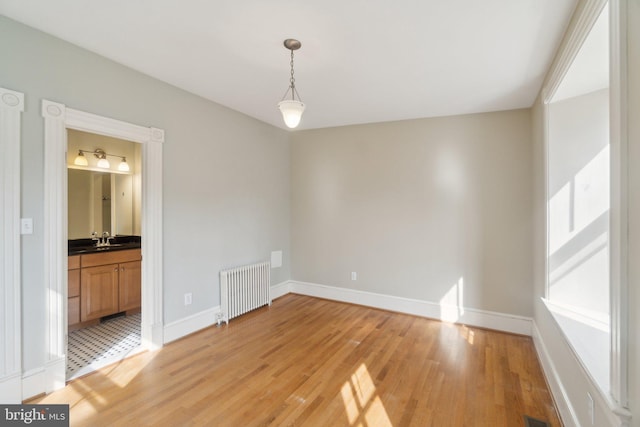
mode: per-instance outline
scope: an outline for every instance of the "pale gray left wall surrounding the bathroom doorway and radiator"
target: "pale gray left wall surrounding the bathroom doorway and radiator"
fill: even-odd
[[[289,279],[287,132],[2,16],[0,57],[0,85],[25,93],[22,216],[34,219],[34,234],[22,237],[24,370],[45,360],[42,171],[52,159],[43,156],[42,99],[166,131],[165,324],[217,306],[224,266],[281,249],[272,283]]]

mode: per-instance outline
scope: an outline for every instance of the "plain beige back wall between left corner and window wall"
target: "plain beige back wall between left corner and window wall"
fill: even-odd
[[[294,133],[292,278],[530,316],[530,156],[529,110]]]

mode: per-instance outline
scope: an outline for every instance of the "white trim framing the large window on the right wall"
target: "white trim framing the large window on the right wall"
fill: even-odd
[[[610,207],[610,300],[611,354],[610,390],[606,396],[614,403],[615,413],[626,417],[628,411],[628,282],[627,282],[627,58],[626,58],[626,0],[609,0],[610,34],[610,149],[611,149],[611,207]],[[577,20],[562,46],[547,76],[543,90],[544,123],[547,129],[548,106],[567,73],[582,43],[607,4],[606,0],[587,0],[576,11]],[[545,181],[548,181],[548,132],[545,131]],[[548,200],[548,185],[546,199]],[[547,245],[549,213],[547,209]],[[545,256],[548,295],[549,268]]]

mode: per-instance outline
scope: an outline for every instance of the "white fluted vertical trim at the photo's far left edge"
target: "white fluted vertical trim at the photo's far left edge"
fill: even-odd
[[[0,402],[20,403],[20,138],[24,94],[0,88]]]

